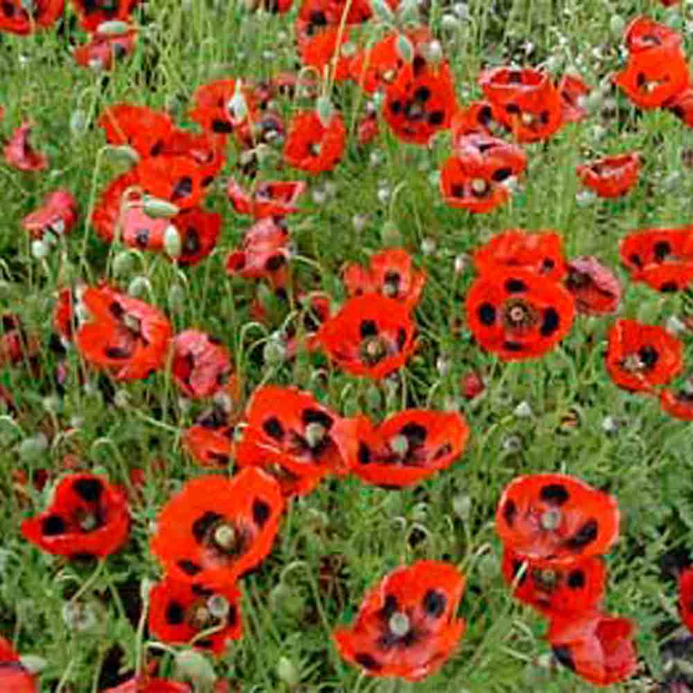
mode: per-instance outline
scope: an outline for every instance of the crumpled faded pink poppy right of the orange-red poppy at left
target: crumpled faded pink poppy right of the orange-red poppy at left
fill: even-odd
[[[173,337],[171,374],[186,396],[211,397],[231,375],[229,350],[204,332],[185,330]]]

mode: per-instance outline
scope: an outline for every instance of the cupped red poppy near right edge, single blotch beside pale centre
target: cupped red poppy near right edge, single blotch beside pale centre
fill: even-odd
[[[631,392],[666,385],[683,369],[683,344],[658,325],[617,320],[608,333],[606,370]]]

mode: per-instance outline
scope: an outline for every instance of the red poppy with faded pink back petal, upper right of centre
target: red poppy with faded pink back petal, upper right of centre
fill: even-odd
[[[450,207],[490,212],[510,198],[508,184],[527,168],[518,146],[486,134],[455,139],[455,152],[441,168],[440,192]]]

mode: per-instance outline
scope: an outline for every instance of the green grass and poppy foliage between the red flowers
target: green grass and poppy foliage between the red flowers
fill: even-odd
[[[333,173],[310,179],[306,212],[289,219],[299,254],[292,262],[297,283],[342,299],[344,263],[366,262],[387,245],[383,236],[389,241],[393,228],[398,243],[428,274],[415,314],[421,349],[383,385],[334,371],[319,356],[266,362],[265,344],[296,315],[260,289],[274,324],[252,323],[249,304],[256,286],[229,280],[223,269],[249,222],[231,211],[221,182],[204,205],[223,215],[220,242],[207,261],[190,270],[117,244],[107,247],[86,221],[95,196],[123,170],[103,151],[103,133],[94,126],[100,111],[129,100],[166,107],[179,124],[192,125],[186,116],[190,98],[204,82],[225,76],[260,80],[295,69],[295,12],[275,17],[251,14],[243,3],[150,0],[136,13],[137,50],[112,73],[73,63],[71,46],[85,35],[71,10],[53,30],[26,38],[0,36],[0,104],[6,109],[0,137],[7,139],[29,117],[35,122],[33,141],[51,159],[45,173],[0,166],[0,308],[17,313],[44,345],[37,376],[21,367],[0,371],[0,384],[18,407],[16,416],[0,416],[0,633],[21,653],[46,660],[45,691],[100,690],[114,685],[118,669],[132,669],[143,649],[161,655],[146,632],[143,643],[137,637],[141,582],[160,574],[148,538],[170,492],[200,473],[184,455],[180,438],[203,405],[179,401],[165,373],[128,384],[90,373],[80,383],[74,351],[64,357],[69,376],[59,387],[58,356],[46,347],[58,287],[108,277],[127,288],[146,278],[144,297],[166,311],[176,331],[194,326],[229,346],[245,396],[261,381],[294,384],[344,414],[364,410],[378,419],[403,406],[457,407],[472,429],[462,459],[414,489],[383,491],[347,478],[325,482],[292,503],[271,556],[243,581],[244,638],[214,662],[231,690],[290,690],[277,675],[281,657],[298,672],[297,690],[310,693],[591,690],[551,664],[545,622],[514,603],[500,577],[495,504],[513,477],[539,471],[570,473],[616,496],[622,538],[608,556],[606,608],[638,623],[642,666],[614,689],[669,690],[672,652],[693,663],[693,649],[689,654],[688,643],[676,635],[674,579],[674,567],[689,559],[693,547],[690,425],[608,380],[603,356],[611,319],[578,317],[569,337],[542,360],[506,365],[482,353],[460,325],[473,270],[456,271],[455,260],[502,229],[558,229],[568,256],[596,254],[616,268],[627,286],[620,315],[664,324],[672,315],[692,312],[692,297],[685,292],[658,295],[629,285],[617,243],[633,229],[691,221],[693,177],[685,152],[693,150],[693,131],[667,112],[638,112],[611,87],[608,73],[623,60],[624,21],[640,12],[681,30],[690,50],[693,5],[665,10],[649,1],[426,1],[421,14],[443,44],[462,103],[480,96],[475,85],[480,67],[509,61],[545,64],[556,75],[575,67],[599,90],[590,98],[587,121],[527,147],[529,167],[520,190],[507,207],[489,215],[471,216],[441,202],[436,173],[449,150],[444,136],[430,150],[415,148],[398,143],[383,124],[374,145],[360,148],[352,139]],[[337,85],[333,100],[353,123],[353,109],[363,105],[358,89]],[[281,108],[290,115],[305,105],[297,99]],[[629,150],[640,151],[645,165],[626,198],[577,195],[579,161]],[[238,175],[238,152],[231,145],[227,153],[222,176]],[[263,157],[260,175],[301,177],[282,168],[279,148]],[[37,260],[21,218],[56,186],[77,196],[80,225]],[[301,257],[317,262],[319,270]],[[683,338],[690,360],[691,339]],[[486,376],[488,387],[467,402],[460,379],[471,369]],[[113,396],[117,405],[109,401]],[[531,416],[516,415],[521,402],[529,404]],[[577,416],[574,428],[565,426],[569,412]],[[125,550],[86,586],[79,613],[66,616],[67,600],[90,579],[94,565],[64,563],[21,538],[21,519],[46,506],[49,489],[21,491],[13,473],[58,468],[68,454],[123,484],[129,483],[131,468],[141,467],[147,482],[132,508]],[[155,464],[159,460],[165,465]],[[441,672],[423,683],[363,678],[339,659],[329,633],[351,621],[374,581],[418,559],[452,561],[466,573],[460,609],[468,624],[464,640]],[[172,675],[170,653],[161,656],[159,671]]]

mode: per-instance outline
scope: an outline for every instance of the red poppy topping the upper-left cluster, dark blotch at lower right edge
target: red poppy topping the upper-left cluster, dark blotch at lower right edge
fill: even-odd
[[[161,154],[173,132],[173,121],[166,112],[132,103],[107,107],[96,124],[103,128],[109,144],[130,146],[141,157]]]

